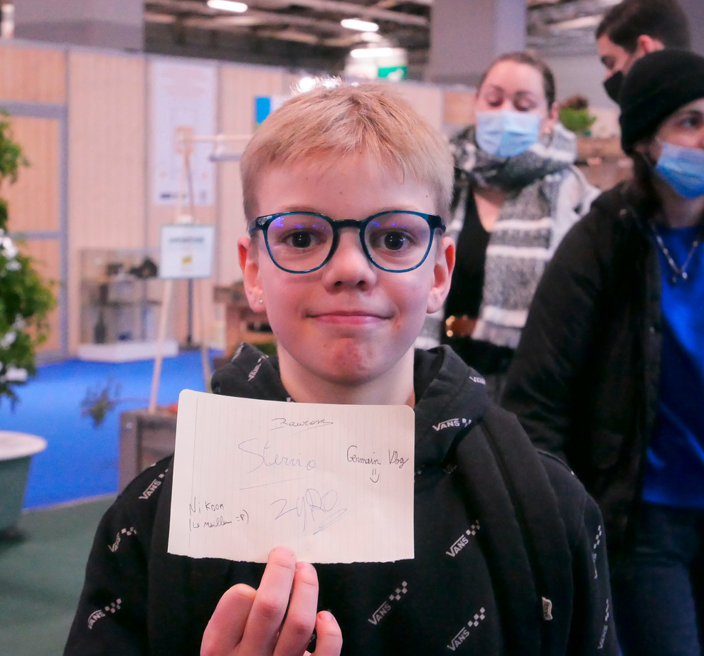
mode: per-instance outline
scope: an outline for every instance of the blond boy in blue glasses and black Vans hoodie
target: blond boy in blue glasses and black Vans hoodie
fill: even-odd
[[[413,349],[454,264],[446,142],[385,88],[319,88],[267,118],[241,171],[240,265],[277,357],[240,345],[213,391],[415,408],[415,558],[167,554],[163,461],[102,520],[66,653],[300,655],[315,629],[318,656],[616,654],[598,509],[452,351]]]

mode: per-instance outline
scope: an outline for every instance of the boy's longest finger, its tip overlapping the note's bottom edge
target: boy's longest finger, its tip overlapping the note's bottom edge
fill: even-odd
[[[247,619],[238,654],[272,654],[291,596],[296,556],[279,546],[269,554],[262,582]]]

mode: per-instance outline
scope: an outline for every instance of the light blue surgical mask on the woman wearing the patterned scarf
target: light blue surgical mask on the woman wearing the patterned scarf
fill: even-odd
[[[489,155],[516,157],[540,134],[540,116],[530,112],[476,112],[476,143]]]

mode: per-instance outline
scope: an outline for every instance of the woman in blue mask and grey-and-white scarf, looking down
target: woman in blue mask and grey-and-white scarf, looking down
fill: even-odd
[[[417,345],[451,344],[498,398],[545,264],[598,191],[573,166],[577,141],[558,122],[543,60],[501,55],[481,78],[474,110],[475,125],[451,139],[452,288]]]

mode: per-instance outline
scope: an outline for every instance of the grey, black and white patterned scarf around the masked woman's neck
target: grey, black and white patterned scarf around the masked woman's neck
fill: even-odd
[[[560,123],[553,134],[516,157],[493,157],[474,142],[474,127],[451,141],[457,167],[452,221],[456,241],[464,225],[467,195],[475,186],[508,192],[491,230],[484,265],[484,292],[472,337],[516,348],[535,287],[550,258],[560,184],[577,155],[577,139]]]

